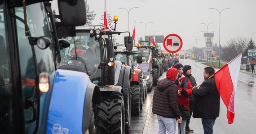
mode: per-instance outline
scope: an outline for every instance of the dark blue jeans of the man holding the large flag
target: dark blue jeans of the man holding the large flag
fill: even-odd
[[[213,133],[213,125],[215,123],[215,120],[216,120],[216,118],[202,118],[204,134],[212,134]]]

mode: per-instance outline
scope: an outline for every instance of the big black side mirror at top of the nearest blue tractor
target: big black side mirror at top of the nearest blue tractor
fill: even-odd
[[[58,0],[62,25],[78,26],[86,23],[84,0]]]

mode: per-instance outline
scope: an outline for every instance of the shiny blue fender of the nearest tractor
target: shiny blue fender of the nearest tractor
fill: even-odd
[[[71,134],[84,133],[83,130],[88,128],[84,124],[84,120],[87,120],[84,119],[85,105],[92,105],[90,98],[96,97],[93,96],[94,91],[87,91],[92,89],[95,89],[95,85],[92,85],[86,73],[58,69],[48,105],[46,133],[51,134],[54,129],[65,129]]]

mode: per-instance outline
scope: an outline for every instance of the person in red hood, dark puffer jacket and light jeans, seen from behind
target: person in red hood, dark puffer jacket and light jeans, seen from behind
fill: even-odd
[[[157,115],[158,134],[175,134],[176,119],[178,123],[182,122],[177,104],[178,87],[175,83],[178,75],[176,68],[170,68],[166,72],[166,78],[159,80],[154,91],[152,112]]]

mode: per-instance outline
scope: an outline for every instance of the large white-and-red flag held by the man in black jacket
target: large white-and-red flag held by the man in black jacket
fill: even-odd
[[[227,107],[227,118],[229,124],[234,121],[234,97],[237,89],[241,59],[242,54],[239,54],[214,74],[216,86],[221,95],[221,99]]]

